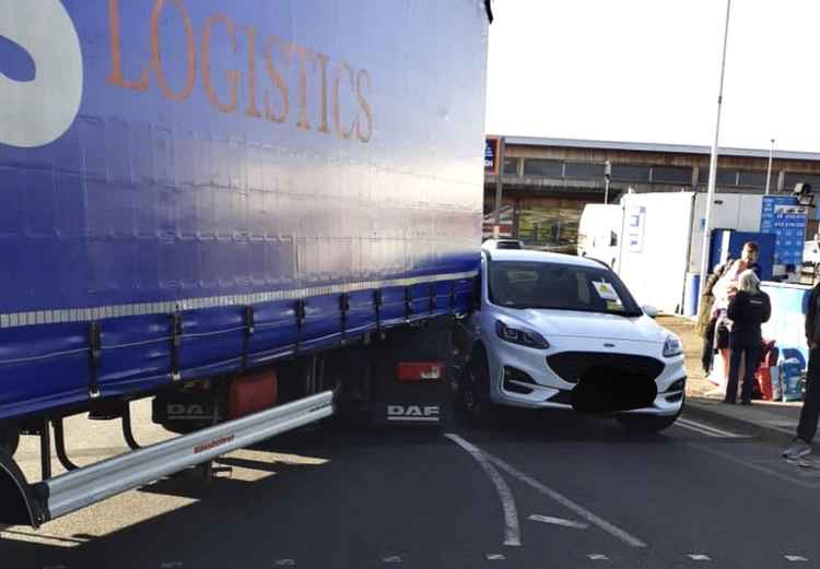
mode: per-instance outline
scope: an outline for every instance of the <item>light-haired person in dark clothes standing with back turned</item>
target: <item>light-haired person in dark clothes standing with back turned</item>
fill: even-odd
[[[754,371],[758,368],[760,344],[763,341],[760,327],[772,315],[769,295],[760,289],[760,278],[752,269],[747,269],[738,278],[738,291],[729,300],[726,316],[731,320],[729,334],[729,378],[726,383],[724,403],[734,404],[737,399],[740,365],[743,363],[743,382],[740,404],[751,404]]]

